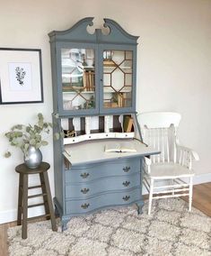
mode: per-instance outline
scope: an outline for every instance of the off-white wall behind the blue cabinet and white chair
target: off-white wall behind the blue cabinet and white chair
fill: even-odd
[[[52,113],[52,88],[48,32],[65,30],[80,19],[95,17],[101,26],[107,17],[127,32],[140,36],[137,65],[137,111],[178,111],[182,114],[180,142],[198,151],[198,174],[211,173],[211,1],[209,0],[0,0],[0,47],[42,50],[44,103],[0,105],[0,222],[15,219],[18,175],[14,167],[22,153],[4,159],[8,142],[4,133],[16,123],[31,123],[42,112]],[[51,164],[53,150],[42,148]],[[31,183],[37,179],[32,178]],[[206,180],[204,180],[206,181]]]

